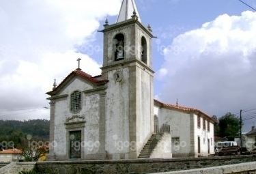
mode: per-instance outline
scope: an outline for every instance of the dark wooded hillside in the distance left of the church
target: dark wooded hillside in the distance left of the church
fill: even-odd
[[[28,121],[0,120],[0,148],[5,148],[5,142],[14,142],[14,147],[24,148],[30,141],[48,141],[50,121],[33,119]],[[8,147],[10,148],[10,147]],[[5,148],[6,149],[6,148]]]

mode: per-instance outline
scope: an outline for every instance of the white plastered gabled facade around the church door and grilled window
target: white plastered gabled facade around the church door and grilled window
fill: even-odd
[[[66,130],[66,119],[73,115],[85,117],[84,139],[82,139],[82,148],[84,155],[98,153],[99,141],[99,100],[98,94],[87,96],[83,93],[85,90],[93,89],[90,83],[84,81],[82,78],[76,77],[60,93],[59,96],[68,94],[68,98],[56,100],[55,102],[55,147],[54,154],[57,159],[63,160],[68,158],[68,140]],[[72,113],[70,111],[70,95],[74,91],[82,92],[82,109],[79,113]],[[85,158],[83,156],[82,158]]]

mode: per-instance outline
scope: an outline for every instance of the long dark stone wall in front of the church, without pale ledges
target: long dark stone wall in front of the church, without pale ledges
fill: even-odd
[[[158,173],[188,169],[201,169],[211,166],[238,164],[256,161],[256,156],[223,156],[209,158],[173,158],[142,160],[104,160],[37,162],[36,171],[54,174],[96,174],[96,173]]]

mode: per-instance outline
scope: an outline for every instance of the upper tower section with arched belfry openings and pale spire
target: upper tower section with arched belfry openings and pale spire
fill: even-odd
[[[123,0],[115,24],[106,20],[104,29],[103,69],[120,63],[137,61],[152,67],[152,30],[141,23],[134,0]]]

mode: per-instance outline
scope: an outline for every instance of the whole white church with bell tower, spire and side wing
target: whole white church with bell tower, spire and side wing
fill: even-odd
[[[106,20],[102,33],[102,74],[91,76],[79,66],[47,93],[51,96],[49,160],[212,154],[211,117],[154,100],[154,35],[150,25],[142,24],[134,0],[122,2],[116,23],[109,25]]]

